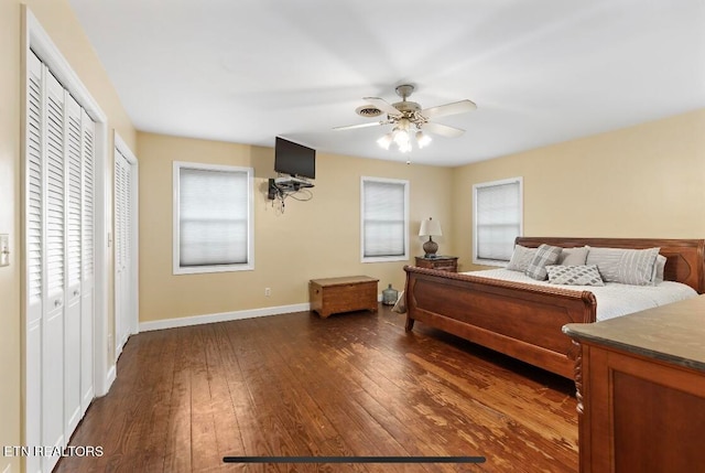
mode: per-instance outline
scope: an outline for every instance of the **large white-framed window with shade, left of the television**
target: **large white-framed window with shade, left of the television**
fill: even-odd
[[[252,169],[174,162],[174,275],[253,268]]]

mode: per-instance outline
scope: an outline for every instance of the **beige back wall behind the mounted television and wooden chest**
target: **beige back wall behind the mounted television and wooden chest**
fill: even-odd
[[[285,201],[281,213],[267,200],[274,178],[271,148],[138,135],[140,160],[140,321],[252,310],[308,301],[307,281],[350,275],[379,278],[401,289],[402,267],[421,254],[419,225],[438,218],[451,225],[451,169],[318,152],[313,200]],[[172,275],[172,162],[243,165],[254,169],[254,270]],[[410,181],[409,261],[360,262],[360,176]],[[449,237],[441,251],[452,252]],[[271,288],[271,297],[264,297]]]

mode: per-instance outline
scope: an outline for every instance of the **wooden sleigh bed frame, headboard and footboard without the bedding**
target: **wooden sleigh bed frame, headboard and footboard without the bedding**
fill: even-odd
[[[541,244],[643,249],[660,247],[666,257],[664,279],[705,292],[705,240],[623,238],[530,238]],[[539,287],[464,273],[405,266],[406,331],[415,321],[529,364],[573,378],[578,346],[562,332],[567,323],[596,321],[597,302],[589,291]]]

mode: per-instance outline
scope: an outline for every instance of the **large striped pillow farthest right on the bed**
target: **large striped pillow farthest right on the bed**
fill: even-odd
[[[597,265],[605,282],[650,286],[659,249],[590,247],[585,264]]]

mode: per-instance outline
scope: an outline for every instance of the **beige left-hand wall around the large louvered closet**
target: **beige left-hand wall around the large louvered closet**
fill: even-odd
[[[0,268],[0,445],[22,442],[21,419],[21,47],[22,3],[26,3],[54,44],[68,61],[108,116],[110,136],[117,129],[134,148],[135,131],[112,88],[93,46],[88,43],[66,0],[0,1],[0,233],[10,235],[11,264]],[[112,166],[112,153],[109,158]],[[111,312],[111,311],[110,311]],[[112,324],[112,322],[110,322]],[[111,362],[113,362],[111,359]],[[0,456],[20,471],[20,459]]]

